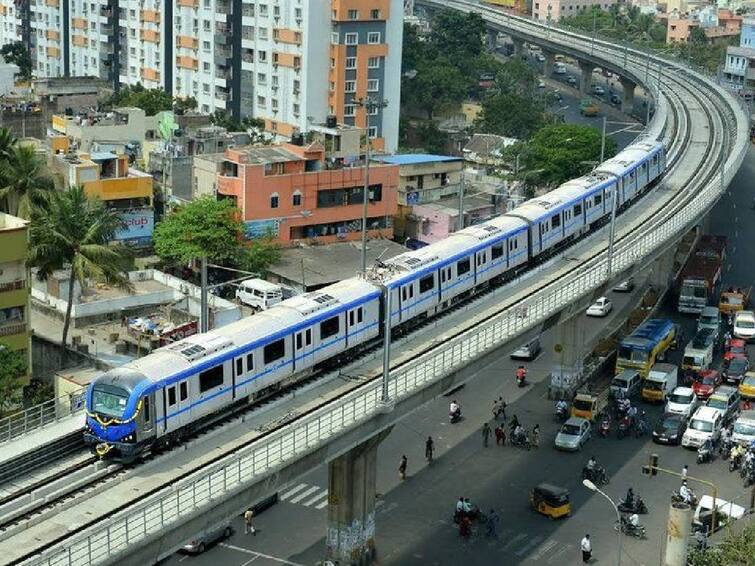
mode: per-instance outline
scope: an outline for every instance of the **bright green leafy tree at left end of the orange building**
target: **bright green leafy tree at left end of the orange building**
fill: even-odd
[[[238,258],[244,224],[233,201],[204,197],[169,214],[155,228],[152,241],[161,259],[173,265],[207,256],[217,263]]]

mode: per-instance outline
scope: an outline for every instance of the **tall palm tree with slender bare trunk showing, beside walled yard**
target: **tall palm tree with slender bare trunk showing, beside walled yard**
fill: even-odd
[[[73,290],[90,281],[99,281],[132,290],[128,278],[130,250],[113,242],[123,221],[114,210],[96,198],[88,198],[81,186],[50,193],[44,209],[32,208],[29,230],[29,261],[38,267],[38,277],[46,279],[56,269],[70,265],[68,306],[63,322],[65,347],[71,324]],[[65,350],[64,350],[65,351]]]

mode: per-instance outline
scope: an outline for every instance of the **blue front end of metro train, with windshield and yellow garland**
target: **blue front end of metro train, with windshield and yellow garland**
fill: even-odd
[[[151,443],[151,435],[140,427],[150,409],[144,394],[151,385],[144,374],[126,367],[112,369],[89,384],[84,442],[96,455],[129,462]]]

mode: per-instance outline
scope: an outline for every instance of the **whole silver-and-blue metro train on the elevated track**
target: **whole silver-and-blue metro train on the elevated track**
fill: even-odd
[[[364,275],[292,297],[269,310],[189,336],[97,377],[86,392],[85,442],[132,461],[230,408],[336,365],[511,277],[630,206],[666,167],[660,143],[635,143],[589,175],[444,240],[379,262]]]

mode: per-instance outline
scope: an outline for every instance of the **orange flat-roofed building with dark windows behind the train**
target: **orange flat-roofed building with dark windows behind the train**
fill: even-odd
[[[370,165],[369,237],[391,238],[399,168]],[[272,235],[283,245],[361,238],[364,168],[329,168],[320,144],[226,149],[218,198],[243,213],[250,238]]]

